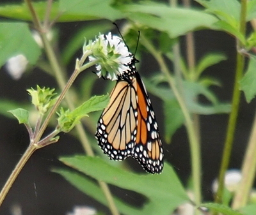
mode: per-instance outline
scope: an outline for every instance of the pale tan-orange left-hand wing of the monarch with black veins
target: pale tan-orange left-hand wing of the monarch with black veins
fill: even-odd
[[[131,156],[136,137],[136,89],[124,80],[116,82],[108,107],[97,124],[95,137],[110,159]]]

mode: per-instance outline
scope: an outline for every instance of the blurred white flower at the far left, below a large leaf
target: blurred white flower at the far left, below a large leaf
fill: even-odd
[[[13,79],[18,80],[28,65],[28,60],[22,54],[10,57],[6,62],[6,70],[12,76]]]

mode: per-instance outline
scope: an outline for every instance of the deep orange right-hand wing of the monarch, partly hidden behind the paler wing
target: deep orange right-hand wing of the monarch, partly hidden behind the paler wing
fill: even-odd
[[[156,116],[140,75],[136,74],[138,95],[138,125],[132,156],[147,172],[161,173],[163,170],[163,147]]]

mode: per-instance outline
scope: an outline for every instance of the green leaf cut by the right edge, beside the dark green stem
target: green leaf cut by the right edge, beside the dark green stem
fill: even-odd
[[[244,77],[239,82],[240,88],[244,91],[246,101],[250,103],[256,95],[256,58],[251,57],[248,65],[248,69]]]

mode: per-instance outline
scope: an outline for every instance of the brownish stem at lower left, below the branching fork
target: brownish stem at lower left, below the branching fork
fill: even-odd
[[[4,200],[5,196],[7,195],[8,191],[12,187],[13,182],[15,181],[17,176],[19,175],[20,171],[22,170],[22,168],[24,167],[24,165],[26,164],[28,159],[31,157],[31,155],[35,151],[36,151],[36,146],[33,145],[33,144],[29,144],[28,149],[26,150],[26,152],[24,152],[24,154],[20,158],[19,163],[17,163],[16,167],[13,169],[12,174],[10,175],[10,177],[8,178],[6,183],[4,184],[3,189],[1,190],[1,193],[0,193],[0,206],[2,205],[3,200]]]

